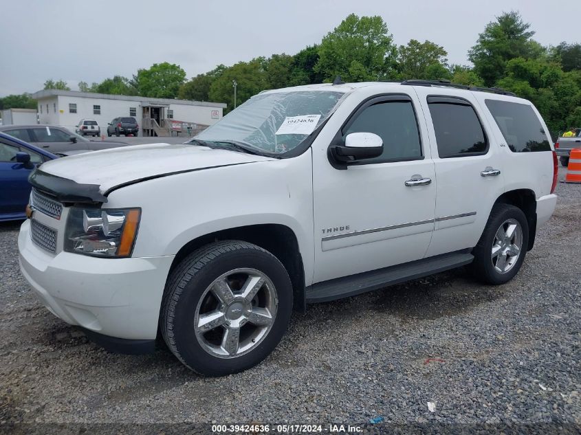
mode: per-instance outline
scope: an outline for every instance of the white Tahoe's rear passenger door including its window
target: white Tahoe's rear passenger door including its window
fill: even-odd
[[[415,88],[435,164],[435,230],[426,256],[474,247],[504,192],[501,150],[473,93]]]

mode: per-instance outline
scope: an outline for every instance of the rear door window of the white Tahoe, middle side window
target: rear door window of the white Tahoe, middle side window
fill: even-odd
[[[457,98],[428,97],[428,107],[440,158],[487,153],[486,135],[470,103]]]

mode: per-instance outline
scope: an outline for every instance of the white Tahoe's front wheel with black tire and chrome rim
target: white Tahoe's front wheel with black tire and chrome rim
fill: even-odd
[[[223,241],[201,247],[172,272],[160,329],[188,368],[221,376],[265,359],[291,313],[292,285],[281,262],[251,243]]]

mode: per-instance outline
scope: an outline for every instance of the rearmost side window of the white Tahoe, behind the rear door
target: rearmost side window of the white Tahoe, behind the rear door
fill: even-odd
[[[485,103],[512,152],[551,150],[545,130],[529,104],[500,100],[485,100]]]

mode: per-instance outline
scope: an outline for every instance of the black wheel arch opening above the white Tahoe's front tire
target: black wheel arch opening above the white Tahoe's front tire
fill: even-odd
[[[297,311],[305,311],[305,269],[294,231],[278,223],[244,225],[204,234],[183,245],[171,264],[168,278],[186,256],[210,243],[238,240],[253,243],[266,249],[283,264],[289,274],[293,288],[293,305]]]

